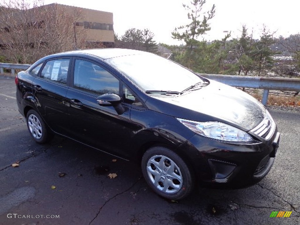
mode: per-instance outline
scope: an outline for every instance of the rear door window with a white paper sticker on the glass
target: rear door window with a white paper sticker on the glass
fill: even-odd
[[[70,59],[54,59],[47,61],[42,70],[41,77],[67,84],[69,62]]]

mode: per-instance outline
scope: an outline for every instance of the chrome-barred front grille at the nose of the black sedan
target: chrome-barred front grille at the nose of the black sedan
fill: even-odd
[[[259,123],[259,125],[253,128],[251,132],[258,135],[259,137],[264,138],[265,140],[268,140],[273,134],[274,129],[275,123],[268,111],[266,111],[265,118],[262,120],[262,122]]]

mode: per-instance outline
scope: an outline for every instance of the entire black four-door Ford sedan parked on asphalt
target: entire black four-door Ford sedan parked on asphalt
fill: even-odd
[[[16,76],[17,105],[38,143],[59,134],[141,164],[159,195],[263,179],[276,125],[243,91],[160,56],[128,49],[49,55]]]

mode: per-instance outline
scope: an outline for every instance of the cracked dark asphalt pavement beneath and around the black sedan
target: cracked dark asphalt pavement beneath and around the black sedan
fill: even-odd
[[[280,147],[261,182],[239,190],[197,188],[175,202],[149,189],[139,165],[113,162],[63,137],[35,143],[15,93],[14,77],[0,76],[0,224],[300,224],[299,112],[270,110]],[[16,162],[19,167],[12,167]],[[272,211],[292,214],[270,218]]]

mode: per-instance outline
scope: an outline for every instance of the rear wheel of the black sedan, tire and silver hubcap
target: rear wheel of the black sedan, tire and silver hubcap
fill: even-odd
[[[31,137],[40,144],[48,142],[52,133],[44,123],[41,116],[35,110],[29,110],[26,116],[26,123]]]

